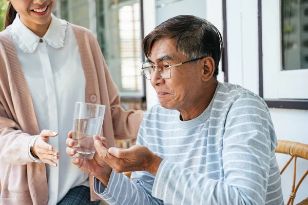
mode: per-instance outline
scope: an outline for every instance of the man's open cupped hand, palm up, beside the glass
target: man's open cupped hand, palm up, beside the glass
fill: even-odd
[[[134,145],[125,150],[119,148],[107,150],[99,141],[94,145],[99,155],[117,173],[146,171],[156,175],[163,160],[145,146]]]

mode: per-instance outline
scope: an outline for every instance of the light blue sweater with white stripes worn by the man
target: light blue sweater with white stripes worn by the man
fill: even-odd
[[[268,107],[240,86],[219,83],[197,118],[160,105],[149,109],[137,144],[162,161],[156,176],[112,171],[94,191],[109,204],[283,204]]]

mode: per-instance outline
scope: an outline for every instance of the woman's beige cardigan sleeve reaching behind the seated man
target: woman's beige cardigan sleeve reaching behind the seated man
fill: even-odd
[[[88,31],[88,35],[90,38],[91,50],[94,56],[95,67],[97,67],[99,80],[106,81],[114,130],[114,138],[136,138],[141,121],[144,116],[144,112],[140,110],[125,111],[121,107],[119,90],[109,73],[101,48],[94,35],[90,31]]]

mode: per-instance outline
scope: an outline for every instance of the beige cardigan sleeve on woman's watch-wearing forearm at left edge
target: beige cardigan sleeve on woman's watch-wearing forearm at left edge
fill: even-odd
[[[15,121],[9,119],[0,102],[0,162],[10,165],[26,165],[33,162],[28,152],[32,137],[24,133]]]

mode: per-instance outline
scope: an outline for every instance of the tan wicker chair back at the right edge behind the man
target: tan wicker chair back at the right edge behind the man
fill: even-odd
[[[304,180],[304,178],[308,175],[308,169],[304,173],[304,175],[300,178],[297,185],[295,186],[295,180],[296,180],[296,159],[297,157],[307,159],[308,160],[308,145],[301,144],[299,142],[293,142],[293,141],[284,141],[284,140],[278,140],[278,146],[275,149],[276,153],[282,153],[282,154],[289,154],[291,155],[291,158],[286,162],[285,166],[280,171],[280,174],[283,173],[285,168],[290,164],[290,162],[294,158],[294,171],[293,171],[293,184],[291,189],[290,198],[288,199],[286,205],[293,205],[294,198],[296,196],[296,192],[301,185],[301,182]],[[297,205],[308,205],[308,197],[305,198],[303,201],[298,203]]]

